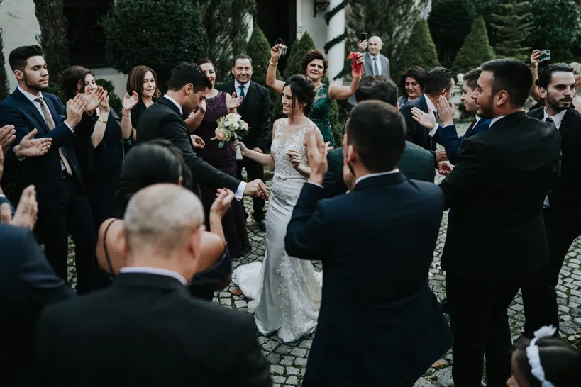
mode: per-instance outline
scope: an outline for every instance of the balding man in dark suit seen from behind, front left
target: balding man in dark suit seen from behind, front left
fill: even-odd
[[[191,191],[139,191],[123,222],[126,267],[113,284],[46,308],[35,367],[43,386],[272,386],[253,318],[189,296],[204,210]]]

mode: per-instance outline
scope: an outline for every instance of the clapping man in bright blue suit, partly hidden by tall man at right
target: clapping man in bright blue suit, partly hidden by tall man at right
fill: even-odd
[[[433,114],[424,113],[424,111],[421,111],[419,108],[411,108],[411,115],[413,116],[414,120],[419,122],[422,126],[424,126],[424,128],[430,130],[428,134],[431,135],[433,139],[438,142],[438,144],[444,147],[446,150],[446,155],[448,156],[448,160],[450,160],[452,164],[455,164],[456,160],[458,160],[460,145],[462,145],[463,140],[469,138],[472,135],[477,135],[483,130],[488,130],[490,125],[489,119],[482,118],[476,114],[478,105],[471,97],[472,92],[477,87],[476,84],[481,72],[482,69],[478,67],[464,74],[462,96],[460,96],[460,101],[462,101],[468,113],[475,115],[472,123],[467,128],[464,135],[458,135],[458,131],[454,125],[454,106],[450,105],[448,100],[442,96],[440,97],[437,106],[442,125],[438,125],[436,130],[433,130],[433,127],[436,124],[436,118],[434,118]]]

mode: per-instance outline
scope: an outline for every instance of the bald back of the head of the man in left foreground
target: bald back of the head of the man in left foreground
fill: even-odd
[[[200,230],[204,208],[188,189],[155,184],[133,195],[123,220],[129,254],[148,251],[170,255]]]

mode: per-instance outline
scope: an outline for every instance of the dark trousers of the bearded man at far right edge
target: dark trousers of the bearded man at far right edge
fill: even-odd
[[[556,286],[559,272],[572,242],[581,234],[580,220],[570,220],[570,215],[560,215],[545,208],[545,229],[549,247],[549,267],[539,271],[522,287],[524,305],[524,335],[532,338],[538,328],[553,325],[559,328]],[[569,218],[569,219],[568,219]]]

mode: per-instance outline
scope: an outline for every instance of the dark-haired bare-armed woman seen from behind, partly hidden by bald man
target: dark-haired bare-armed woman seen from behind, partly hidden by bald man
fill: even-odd
[[[153,184],[177,184],[191,188],[192,172],[184,162],[182,153],[168,140],[151,140],[137,145],[128,152],[121,170],[119,190],[115,197],[115,217],[105,220],[99,229],[97,258],[109,274],[118,273],[124,266],[119,249],[122,239],[123,214],[137,191]],[[230,208],[233,193],[220,192],[210,208],[209,228],[201,241],[199,274],[189,285],[189,293],[211,301],[214,291],[230,283],[232,262],[226,249],[222,230],[222,217]]]

